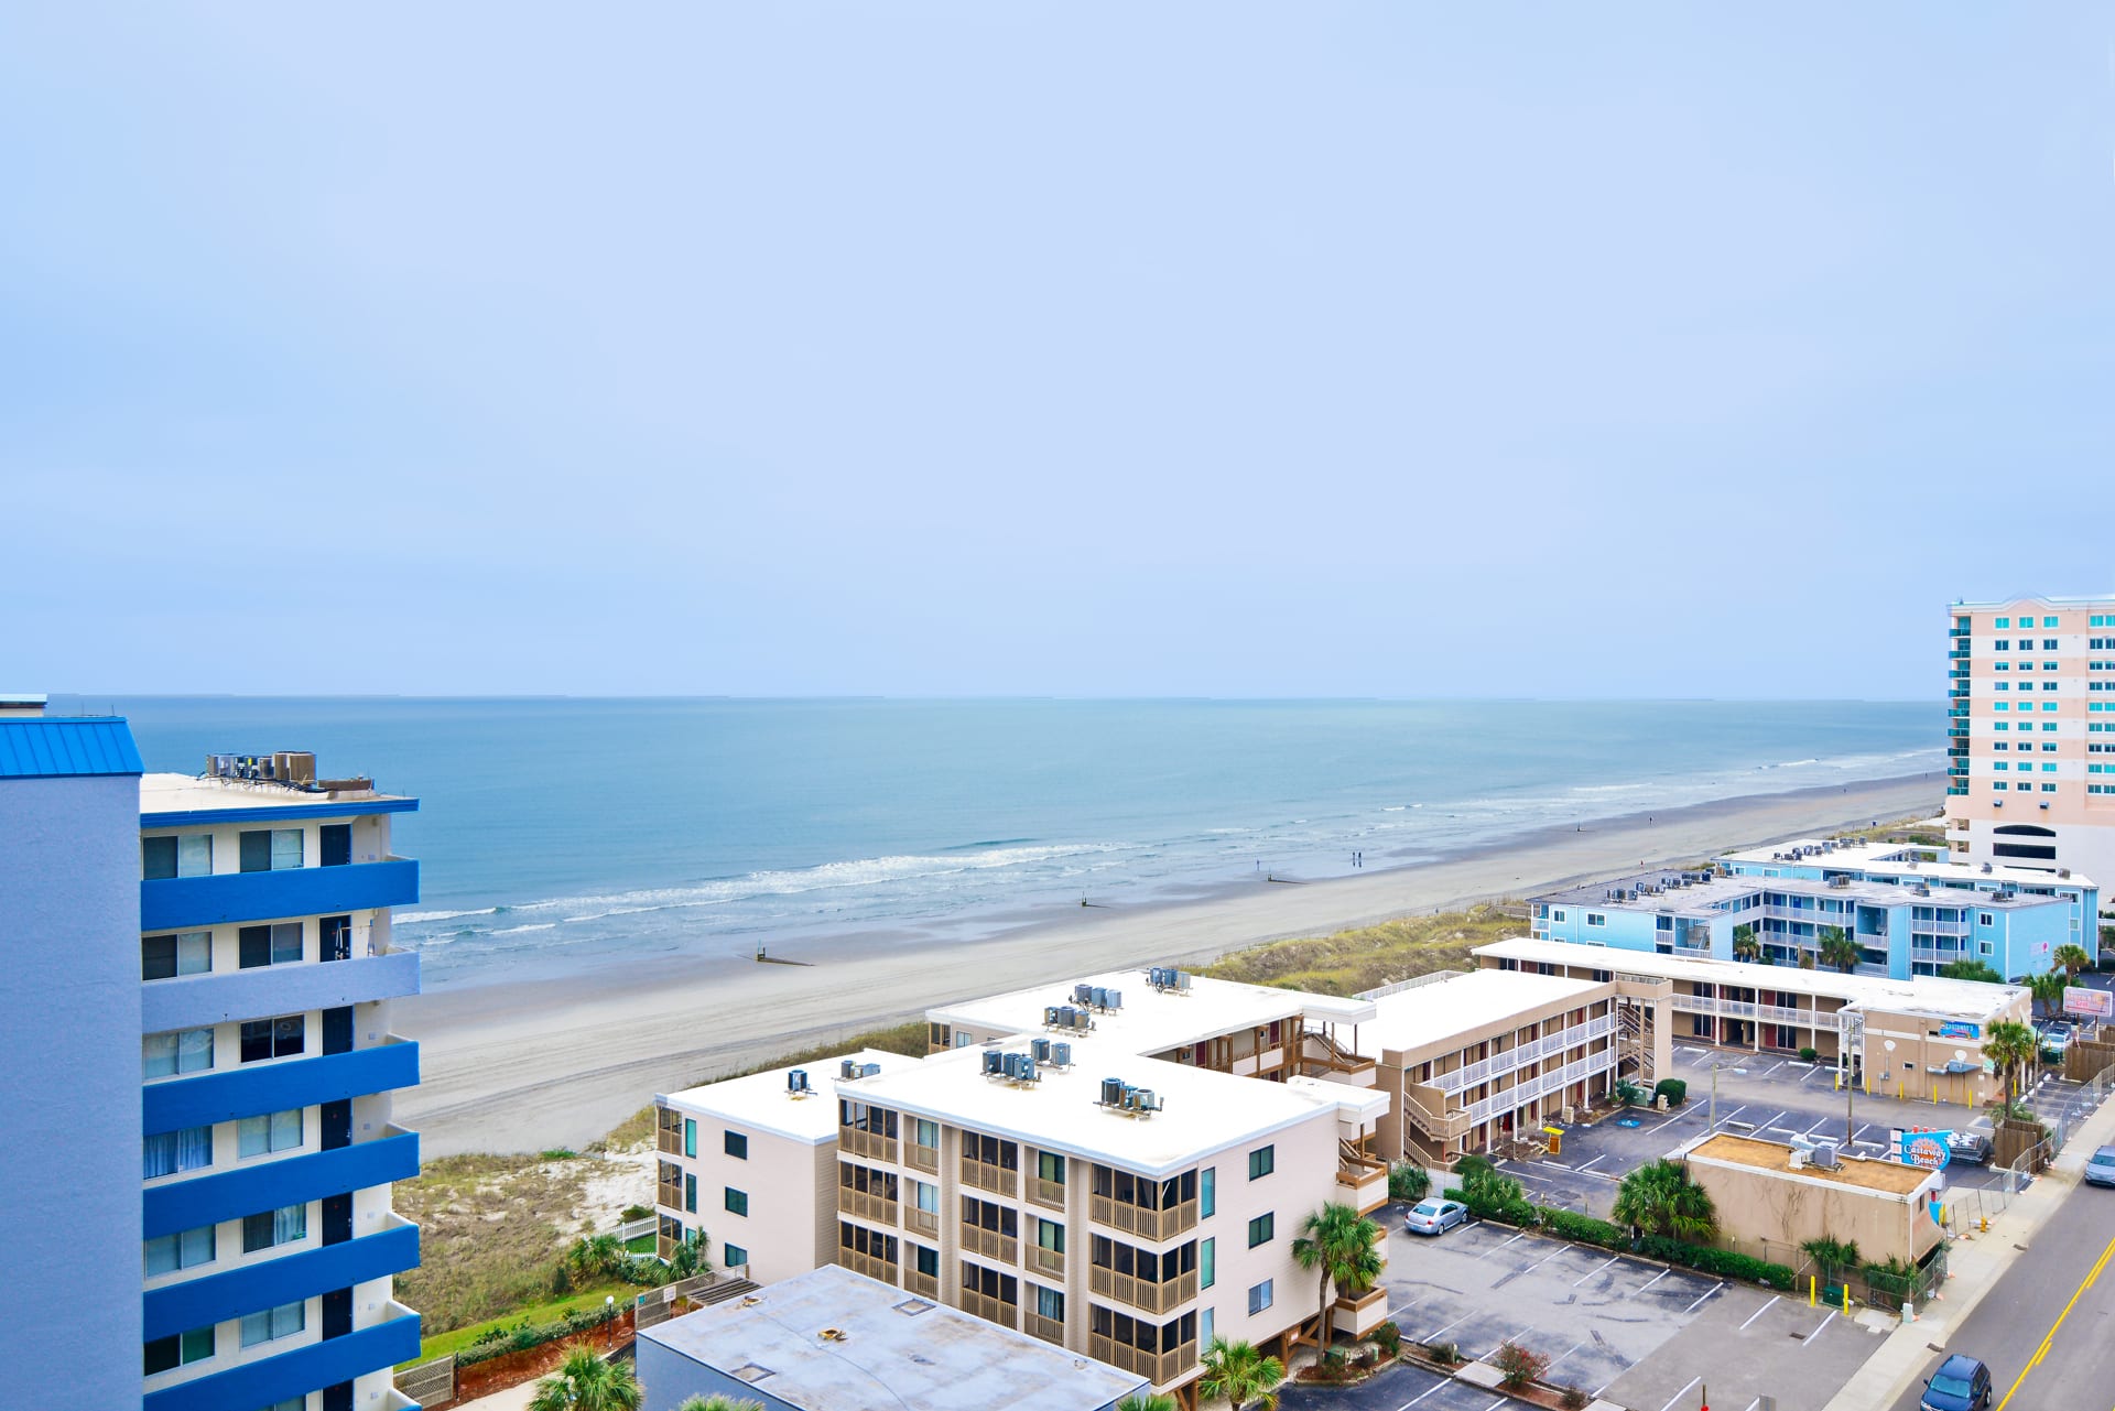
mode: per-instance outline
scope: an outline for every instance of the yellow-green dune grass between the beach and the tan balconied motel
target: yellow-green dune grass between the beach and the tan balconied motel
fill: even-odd
[[[1466,912],[1406,916],[1379,927],[1252,946],[1199,967],[1197,973],[1316,994],[1358,994],[1432,971],[1476,969],[1470,948],[1523,931],[1516,916],[1506,916],[1500,905],[1487,903]]]

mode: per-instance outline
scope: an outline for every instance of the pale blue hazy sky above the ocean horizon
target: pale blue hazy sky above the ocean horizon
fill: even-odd
[[[1937,698],[2104,6],[0,8],[0,685]]]

